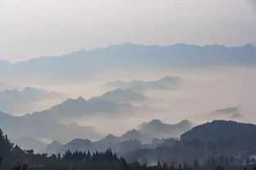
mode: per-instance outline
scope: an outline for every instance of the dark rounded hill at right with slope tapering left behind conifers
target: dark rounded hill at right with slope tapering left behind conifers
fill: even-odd
[[[256,125],[241,124],[234,121],[213,120],[213,122],[195,126],[181,136],[181,141],[164,142],[154,149],[136,150],[126,158],[130,161],[142,160],[143,163],[172,163],[186,160],[193,163],[230,163],[230,157],[237,163],[245,163],[247,157],[256,154]],[[225,157],[225,158],[224,158]],[[221,158],[221,159],[220,159]],[[228,160],[227,160],[228,159]]]

